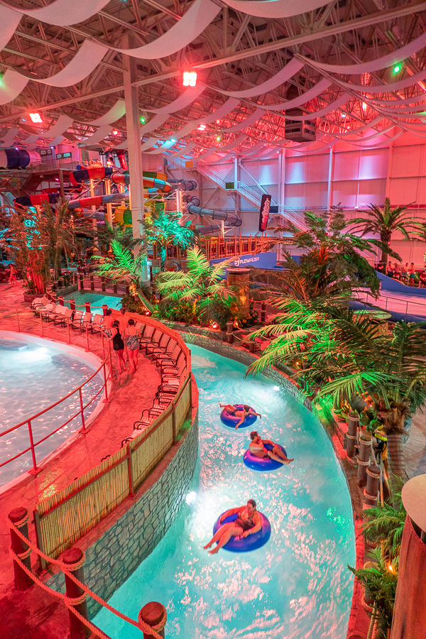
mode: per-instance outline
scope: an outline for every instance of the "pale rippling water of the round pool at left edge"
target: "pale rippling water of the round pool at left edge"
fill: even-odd
[[[96,369],[84,359],[41,342],[0,339],[0,432],[40,413],[80,386]],[[99,391],[103,378],[99,374],[82,388],[86,404]],[[84,410],[87,419],[102,398],[102,393]],[[48,435],[80,409],[80,395],[55,406],[31,422],[34,442]],[[52,437],[35,447],[38,462],[62,444],[82,425],[80,415]],[[29,446],[28,427],[21,426],[0,438],[0,464]],[[0,468],[0,486],[31,469],[31,451]]]

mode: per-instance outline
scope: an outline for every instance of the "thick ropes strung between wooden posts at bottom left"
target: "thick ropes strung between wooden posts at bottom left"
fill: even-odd
[[[8,528],[11,528],[13,532],[16,532],[16,535],[18,535],[18,537],[20,537],[21,540],[23,540],[23,542],[25,542],[28,545],[28,550],[30,552],[31,550],[33,550],[40,557],[43,557],[43,559],[45,559],[45,561],[47,561],[49,564],[54,564],[55,566],[59,566],[62,572],[67,575],[67,577],[69,577],[72,581],[74,581],[74,583],[77,584],[77,586],[80,586],[84,594],[84,599],[86,599],[87,595],[91,596],[92,599],[94,599],[94,601],[97,601],[97,603],[100,603],[101,606],[103,606],[104,608],[107,608],[107,610],[109,610],[114,615],[118,616],[124,621],[127,621],[127,623],[130,623],[131,626],[135,626],[136,628],[138,628],[138,630],[142,630],[143,633],[146,633],[147,635],[152,635],[155,639],[163,639],[161,635],[158,634],[158,632],[163,630],[165,626],[165,622],[167,621],[167,613],[165,614],[165,618],[163,615],[163,618],[161,619],[160,623],[158,623],[158,626],[160,626],[161,623],[163,623],[163,619],[164,619],[164,626],[163,628],[159,628],[159,630],[156,630],[157,626],[155,626],[154,628],[152,626],[148,626],[148,623],[145,623],[145,621],[143,621],[142,619],[139,619],[139,621],[134,621],[134,619],[132,619],[131,617],[128,617],[127,615],[125,615],[124,613],[121,613],[119,610],[117,610],[113,606],[110,606],[109,603],[107,603],[107,601],[104,601],[104,599],[102,599],[96,593],[90,590],[87,584],[83,584],[82,581],[77,579],[77,577],[75,577],[70,572],[70,564],[64,564],[62,561],[58,559],[53,559],[53,557],[49,557],[48,555],[45,555],[45,553],[42,550],[40,550],[40,548],[33,545],[31,540],[25,537],[21,533],[21,531],[18,530],[18,528],[16,528],[16,525],[13,523],[11,518],[9,518],[9,515],[6,517],[6,523],[8,525]],[[12,548],[9,549],[9,554],[11,555],[13,559],[15,559],[15,561],[19,564],[19,566],[21,566],[23,571],[26,572],[26,574],[28,574],[28,577],[31,577],[31,579],[33,579],[35,584],[38,584],[38,586],[43,588],[43,590],[50,592],[51,594],[53,594],[53,596],[56,596],[59,599],[62,599],[62,601],[64,601],[65,603],[65,606],[67,606],[67,608],[72,610],[73,613],[77,613],[77,611],[75,611],[75,609],[72,606],[78,606],[79,603],[82,603],[84,601],[84,599],[82,599],[83,594],[80,597],[70,598],[65,594],[62,594],[56,590],[53,590],[52,588],[47,586],[44,583],[44,581],[41,581],[38,577],[36,577],[32,570],[28,570],[26,565],[23,564],[23,562],[21,562],[21,559],[18,557],[18,555],[16,555],[16,552],[14,552]],[[83,553],[82,559],[80,559],[79,562],[72,564],[72,569],[75,570],[76,569],[75,566],[77,566],[77,568],[82,567],[82,564],[84,563],[83,559],[85,559],[84,553]],[[85,619],[82,615],[80,615],[80,613],[77,613],[76,616],[78,616],[80,618],[80,621],[82,621],[87,626],[87,628],[90,628],[92,632],[95,632],[95,633],[100,632],[97,626],[94,626],[89,621],[87,621],[87,619]],[[103,635],[103,636],[106,639],[110,639],[107,635]]]

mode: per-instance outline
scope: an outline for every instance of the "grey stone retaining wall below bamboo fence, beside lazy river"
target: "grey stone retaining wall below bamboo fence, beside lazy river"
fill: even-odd
[[[190,488],[197,457],[198,413],[158,481],[87,548],[84,580],[99,597],[109,599],[168,531]],[[63,574],[49,579],[48,585],[63,591]],[[87,605],[90,617],[101,608],[91,597]]]

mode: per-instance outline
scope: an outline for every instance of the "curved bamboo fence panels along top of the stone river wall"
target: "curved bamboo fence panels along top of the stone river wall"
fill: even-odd
[[[112,315],[119,316],[120,313],[113,309]],[[169,405],[140,431],[133,431],[136,436],[130,442],[62,491],[38,503],[34,511],[37,543],[50,557],[58,557],[138,491],[154,467],[177,443],[180,429],[191,415],[190,349],[178,332],[161,322],[136,313],[126,313],[126,317],[172,337],[185,354],[185,369]]]

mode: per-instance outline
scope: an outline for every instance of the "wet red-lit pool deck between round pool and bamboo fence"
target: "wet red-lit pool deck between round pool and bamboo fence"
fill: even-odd
[[[28,303],[23,302],[20,285],[0,285],[0,329],[17,330],[16,308],[22,319],[21,331],[25,330],[41,337],[40,320],[28,311]],[[43,322],[46,339],[68,342],[67,329],[53,327]],[[73,346],[87,348],[85,333],[72,331]],[[103,351],[99,334],[89,334],[90,350],[102,361]],[[129,365],[127,366],[129,368]],[[0,494],[0,614],[1,637],[3,639],[45,639],[46,629],[50,639],[64,639],[69,635],[68,612],[59,599],[53,599],[40,588],[32,587],[25,593],[13,593],[13,567],[9,557],[10,533],[6,528],[6,515],[18,506],[25,506],[33,512],[39,501],[65,488],[70,482],[82,476],[99,464],[103,457],[113,454],[121,447],[122,440],[131,434],[145,408],[153,404],[153,396],[160,383],[160,376],[149,359],[139,354],[138,369],[117,374],[113,355],[113,380],[109,403],[95,417],[86,435],[79,435],[64,447],[57,456],[43,466],[38,476],[26,476],[13,488]],[[79,418],[77,417],[77,420]],[[80,427],[80,420],[78,427]],[[30,537],[33,539],[33,525],[30,518]],[[33,558],[34,562],[35,558]],[[55,615],[55,624],[48,619]]]

